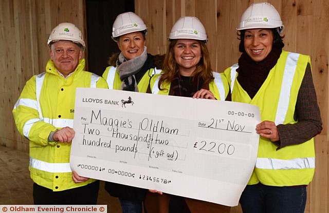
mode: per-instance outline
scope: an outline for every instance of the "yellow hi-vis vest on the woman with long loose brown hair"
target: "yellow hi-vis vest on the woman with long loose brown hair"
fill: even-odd
[[[229,85],[224,73],[212,72],[214,80],[209,82],[209,90],[214,94],[217,100],[224,101],[229,92]],[[152,94],[164,94],[168,95],[170,90],[170,82],[163,82],[161,90],[158,87],[161,74],[157,74],[151,79],[151,91]]]

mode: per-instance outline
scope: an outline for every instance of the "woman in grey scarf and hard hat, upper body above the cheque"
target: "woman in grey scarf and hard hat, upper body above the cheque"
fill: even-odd
[[[112,39],[120,53],[109,57],[103,78],[110,89],[150,92],[153,75],[160,73],[161,59],[147,52],[145,35],[148,28],[133,12],[119,14],[113,23]],[[158,69],[157,69],[158,68]]]

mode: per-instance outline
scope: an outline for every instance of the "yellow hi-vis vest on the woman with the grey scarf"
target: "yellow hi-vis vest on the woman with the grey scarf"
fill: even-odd
[[[145,72],[145,74],[142,76],[142,78],[137,84],[138,91],[147,92],[152,76],[155,74],[159,74],[160,72],[161,70],[156,68],[149,69],[147,72]],[[103,78],[106,80],[108,84],[108,89],[115,89],[115,90],[120,89],[122,81],[120,79],[119,73],[117,72],[117,67],[114,66],[106,67],[103,73]]]

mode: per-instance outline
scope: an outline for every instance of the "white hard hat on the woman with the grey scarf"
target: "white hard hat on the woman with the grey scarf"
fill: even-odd
[[[116,37],[121,35],[144,30],[144,34],[147,34],[148,28],[138,15],[133,12],[125,12],[119,14],[115,19],[112,28],[112,38],[115,40]]]

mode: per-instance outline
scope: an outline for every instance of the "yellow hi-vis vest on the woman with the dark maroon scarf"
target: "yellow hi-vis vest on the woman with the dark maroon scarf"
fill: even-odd
[[[307,63],[310,64],[308,55],[282,51],[253,99],[236,80],[239,66],[235,64],[227,68],[225,74],[231,86],[232,101],[259,106],[262,121],[273,121],[276,125],[297,123],[294,120],[295,106]],[[307,185],[313,179],[314,169],[313,138],[277,150],[270,140],[260,137],[257,162],[248,184]]]

